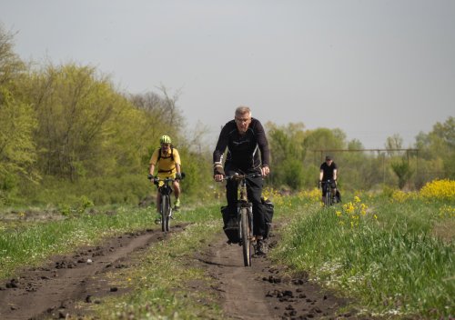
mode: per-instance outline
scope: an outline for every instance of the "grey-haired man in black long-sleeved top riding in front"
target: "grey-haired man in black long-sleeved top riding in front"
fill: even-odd
[[[223,155],[227,149],[223,167]],[[264,127],[258,119],[251,117],[248,106],[239,106],[235,118],[221,129],[217,146],[213,152],[214,178],[223,181],[225,175],[259,173],[262,176],[248,178],[248,199],[253,204],[253,234],[257,239],[259,254],[267,253],[264,242],[264,207],[261,203],[263,176],[269,171],[270,151]],[[228,180],[226,198],[229,213],[237,213],[238,182]]]

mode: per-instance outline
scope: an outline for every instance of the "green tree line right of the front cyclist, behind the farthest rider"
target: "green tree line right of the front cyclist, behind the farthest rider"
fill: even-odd
[[[290,189],[315,187],[326,154],[339,165],[339,185],[345,190],[419,189],[434,179],[455,178],[455,118],[420,132],[410,147],[399,135],[378,149],[348,141],[340,129],[305,130],[303,124],[267,124],[272,149],[274,184]]]

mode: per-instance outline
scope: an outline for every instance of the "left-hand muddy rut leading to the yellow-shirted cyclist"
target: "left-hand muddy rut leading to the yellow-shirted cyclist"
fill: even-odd
[[[174,225],[168,235],[182,230]],[[119,235],[102,245],[80,248],[73,255],[50,258],[50,263],[28,268],[0,283],[1,319],[66,318],[84,315],[76,305],[97,304],[106,295],[119,295],[126,288],[111,286],[106,272],[134,263],[131,255],[168,236],[161,230]]]

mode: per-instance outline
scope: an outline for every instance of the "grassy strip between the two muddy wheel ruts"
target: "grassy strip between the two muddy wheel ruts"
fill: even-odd
[[[219,206],[187,212],[194,224],[166,241],[152,245],[135,268],[128,268],[119,285],[132,286],[133,292],[110,298],[96,305],[100,318],[116,319],[200,319],[222,318],[216,297],[204,290],[191,290],[188,283],[210,285],[203,270],[191,265],[194,253],[207,247],[219,235]]]

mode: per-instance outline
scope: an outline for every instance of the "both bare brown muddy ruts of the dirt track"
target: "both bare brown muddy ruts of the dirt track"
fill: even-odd
[[[147,230],[117,236],[103,245],[79,249],[74,255],[55,256],[45,266],[27,269],[0,283],[0,319],[77,318],[88,313],[84,305],[102,303],[106,295],[122,295],[126,288],[109,285],[106,272],[135,264],[132,256],[169,235]],[[270,238],[270,246],[276,242]],[[347,301],[308,282],[307,275],[289,276],[283,267],[272,266],[266,257],[254,257],[243,266],[241,248],[227,245],[220,233],[217,242],[198,252],[189,264],[203,268],[214,284],[225,315],[234,319],[358,319],[339,313]],[[207,286],[191,290],[207,290]],[[82,304],[81,304],[82,303]],[[82,305],[82,307],[81,307]]]

